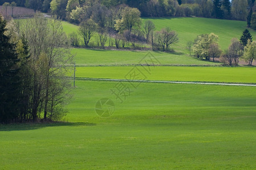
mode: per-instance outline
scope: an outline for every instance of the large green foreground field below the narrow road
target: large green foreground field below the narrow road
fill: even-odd
[[[0,125],[1,169],[255,168],[256,88],[141,83],[121,104],[116,83],[77,81],[73,123]]]

